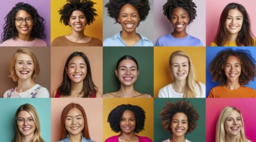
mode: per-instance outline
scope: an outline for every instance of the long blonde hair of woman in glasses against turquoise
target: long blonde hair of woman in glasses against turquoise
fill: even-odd
[[[30,139],[30,142],[43,142],[43,138],[40,134],[40,123],[39,123],[39,117],[36,112],[36,108],[34,108],[32,105],[26,103],[24,105],[21,105],[19,108],[17,108],[16,114],[15,114],[15,126],[16,126],[16,133],[14,135],[14,139],[12,139],[12,142],[21,142],[21,132],[19,132],[19,129],[17,128],[17,116],[19,112],[26,111],[28,112],[35,123],[36,130],[34,132],[34,136]]]

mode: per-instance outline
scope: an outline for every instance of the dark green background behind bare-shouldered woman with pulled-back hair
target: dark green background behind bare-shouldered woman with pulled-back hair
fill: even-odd
[[[103,47],[103,94],[119,90],[120,82],[114,70],[118,59],[125,55],[133,56],[138,62],[139,75],[134,89],[153,96],[153,47]]]

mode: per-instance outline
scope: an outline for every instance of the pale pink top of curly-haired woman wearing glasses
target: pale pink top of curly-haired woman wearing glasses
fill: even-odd
[[[8,39],[1,43],[0,46],[47,46],[47,43],[42,39],[35,38],[33,41],[23,41],[17,37],[15,39]]]

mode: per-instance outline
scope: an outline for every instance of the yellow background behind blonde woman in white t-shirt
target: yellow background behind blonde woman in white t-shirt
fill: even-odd
[[[171,83],[169,57],[176,50],[182,50],[188,54],[197,70],[197,81],[206,84],[206,47],[155,47],[154,97],[158,97],[160,88]]]

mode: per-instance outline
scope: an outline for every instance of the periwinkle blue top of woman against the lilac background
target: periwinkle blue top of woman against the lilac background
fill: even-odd
[[[187,34],[184,38],[176,38],[171,34],[159,37],[156,46],[203,46],[200,39]]]

